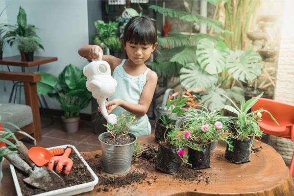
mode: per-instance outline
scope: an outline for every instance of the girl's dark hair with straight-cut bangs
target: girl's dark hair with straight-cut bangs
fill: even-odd
[[[121,42],[123,46],[126,42],[154,46],[157,42],[157,27],[148,16],[135,16],[125,25]]]

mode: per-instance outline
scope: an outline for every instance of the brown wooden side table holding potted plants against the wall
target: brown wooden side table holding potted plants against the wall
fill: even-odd
[[[44,65],[46,63],[51,63],[51,62],[54,62],[57,60],[58,60],[57,57],[34,56],[34,61],[22,61],[21,56],[17,55],[17,56],[3,57],[0,60],[0,65],[6,65],[9,72],[10,72],[9,66],[22,67],[22,72],[25,72],[25,68],[31,68],[31,67],[38,66],[37,71],[39,71],[40,65]],[[12,101],[13,93],[15,92],[14,101],[13,101],[15,103],[18,87],[20,87],[20,99],[21,99],[21,88],[23,87],[23,84],[22,84],[22,82],[13,81],[13,87],[12,87],[8,102]],[[48,104],[46,102],[45,97],[41,96],[41,98],[43,100],[45,107],[48,108]],[[39,98],[39,101],[40,101],[40,98]],[[40,101],[40,104],[41,104],[41,107],[43,107],[41,101]]]

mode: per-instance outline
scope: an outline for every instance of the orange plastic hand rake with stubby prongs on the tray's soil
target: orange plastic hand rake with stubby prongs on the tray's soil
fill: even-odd
[[[68,147],[66,148],[63,155],[52,157],[48,164],[48,170],[53,170],[54,163],[56,162],[57,165],[55,171],[57,173],[60,173],[62,171],[63,166],[65,166],[64,174],[69,174],[73,167],[73,161],[69,158],[71,152],[72,148]]]

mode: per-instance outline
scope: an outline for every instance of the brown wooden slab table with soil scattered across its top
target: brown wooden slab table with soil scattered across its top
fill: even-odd
[[[141,144],[156,144],[154,135],[139,138]],[[80,196],[294,196],[294,183],[290,177],[282,157],[270,146],[255,141],[254,147],[262,147],[261,151],[251,154],[251,162],[236,165],[227,161],[223,144],[212,152],[211,168],[205,169],[210,176],[210,182],[189,182],[174,178],[172,175],[155,171],[154,164],[138,168],[133,164],[131,171],[147,172],[147,178],[157,176],[155,182],[136,183],[121,188],[110,188],[109,192],[100,191],[97,185],[92,192],[80,194]],[[100,150],[83,152],[82,156],[95,158],[95,154],[101,154]],[[8,164],[3,165],[2,185],[0,195],[16,196],[14,184]],[[145,181],[147,181],[146,179]],[[151,181],[151,180],[150,180]]]

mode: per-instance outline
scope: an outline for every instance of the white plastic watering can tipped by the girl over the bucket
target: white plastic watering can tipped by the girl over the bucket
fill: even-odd
[[[117,116],[108,114],[106,110],[106,98],[111,97],[116,90],[117,81],[111,76],[110,65],[102,61],[102,54],[98,53],[98,60],[93,60],[83,69],[87,77],[86,87],[92,92],[93,98],[97,99],[101,114],[108,123],[116,124]]]

